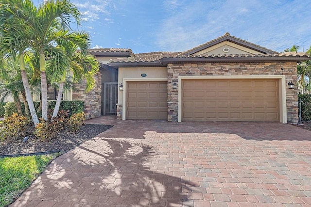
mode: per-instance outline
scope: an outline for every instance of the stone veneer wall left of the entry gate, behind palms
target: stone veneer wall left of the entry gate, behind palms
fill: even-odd
[[[74,84],[76,90],[72,91],[72,100],[84,101],[84,112],[86,119],[101,116],[101,100],[102,100],[102,72],[99,71],[95,76],[95,87],[86,93],[86,80]]]

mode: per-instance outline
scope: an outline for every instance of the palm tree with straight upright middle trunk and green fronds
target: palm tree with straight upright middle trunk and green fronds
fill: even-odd
[[[71,18],[79,25],[81,13],[69,0],[46,0],[38,7],[35,7],[31,0],[2,1],[1,10],[6,11],[5,15],[2,15],[3,18],[15,19],[16,22],[25,25],[30,34],[27,36],[27,40],[30,40],[27,46],[39,54],[42,118],[48,120],[46,51],[63,38],[63,31],[70,30]],[[57,67],[61,68],[61,63],[57,64]]]

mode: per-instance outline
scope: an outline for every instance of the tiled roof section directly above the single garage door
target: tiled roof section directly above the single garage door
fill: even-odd
[[[174,57],[180,52],[137,53],[134,57],[110,59],[110,63],[152,63],[159,62],[162,55]]]

